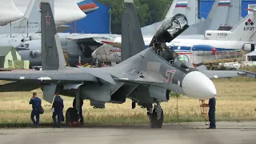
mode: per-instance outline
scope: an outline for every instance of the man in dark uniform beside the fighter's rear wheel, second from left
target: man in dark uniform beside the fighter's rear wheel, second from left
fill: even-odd
[[[52,106],[53,110],[53,119],[54,119],[54,126],[59,127],[62,122],[62,110],[64,108],[63,99],[58,95],[58,92],[55,93],[54,103]],[[58,116],[58,121],[56,122],[56,116]]]

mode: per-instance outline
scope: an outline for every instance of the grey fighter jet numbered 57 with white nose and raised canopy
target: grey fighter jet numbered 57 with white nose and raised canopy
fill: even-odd
[[[161,102],[169,100],[170,91],[190,98],[209,99],[217,95],[213,77],[246,75],[243,71],[209,71],[195,69],[188,58],[171,51],[158,54],[158,46],[145,49],[133,0],[124,0],[122,14],[122,62],[101,68],[67,67],[51,12],[50,3],[41,2],[42,70],[2,71],[0,80],[15,81],[4,84],[1,91],[30,91],[41,87],[43,98],[52,102],[57,90],[77,99],[93,102],[123,103],[126,98],[147,108],[152,128],[161,128]],[[155,40],[171,41],[188,27],[183,14],[175,14],[164,22]],[[166,53],[167,52],[167,53]],[[170,54],[168,53],[170,52]],[[166,57],[165,57],[166,55]],[[171,62],[171,60],[174,60]],[[203,74],[204,73],[204,74]],[[208,76],[208,77],[207,77]],[[253,75],[255,77],[255,74]],[[155,104],[153,106],[153,104]],[[76,106],[79,113],[79,106]]]

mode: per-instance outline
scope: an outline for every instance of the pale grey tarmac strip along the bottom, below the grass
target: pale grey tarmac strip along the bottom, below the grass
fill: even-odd
[[[182,127],[184,126],[184,127]],[[204,122],[165,124],[162,129],[149,126],[85,126],[82,128],[1,129],[5,144],[252,144],[256,142],[256,122],[218,122],[207,130]]]

